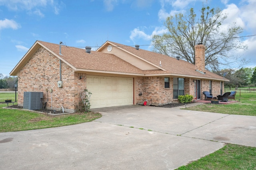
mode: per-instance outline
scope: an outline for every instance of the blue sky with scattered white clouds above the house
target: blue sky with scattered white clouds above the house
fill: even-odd
[[[67,46],[100,46],[107,40],[152,50],[151,37],[166,31],[170,14],[199,11],[202,4],[228,13],[240,36],[256,34],[256,0],[0,0],[0,73],[9,73],[36,40]],[[256,36],[245,37],[238,55],[256,66]]]

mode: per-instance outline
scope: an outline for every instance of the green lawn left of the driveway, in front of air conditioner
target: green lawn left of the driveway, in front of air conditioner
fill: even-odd
[[[15,93],[0,93],[0,102],[12,99],[15,102]],[[17,98],[18,100],[18,98]],[[16,103],[17,104],[17,103]],[[10,105],[10,104],[9,104]],[[100,113],[73,113],[70,115],[48,116],[18,109],[3,109],[7,104],[0,104],[0,132],[25,131],[48,127],[59,127],[85,123],[100,118]]]

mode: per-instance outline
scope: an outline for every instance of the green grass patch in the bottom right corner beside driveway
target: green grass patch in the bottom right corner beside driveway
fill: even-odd
[[[178,170],[255,170],[256,147],[227,144]]]

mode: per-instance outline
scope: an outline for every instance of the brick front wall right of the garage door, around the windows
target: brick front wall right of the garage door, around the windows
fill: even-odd
[[[194,96],[195,82],[193,80],[192,78],[184,78],[184,95]],[[209,80],[201,80],[201,99],[204,99],[203,91],[210,91],[209,88]],[[139,96],[140,92],[142,92],[142,96]],[[214,97],[220,94],[219,81],[212,81],[212,94]],[[170,88],[164,88],[164,77],[137,77],[136,104],[143,104],[146,100],[149,103],[152,100],[151,104],[155,106],[177,103],[178,99],[173,99],[173,78],[170,77]]]

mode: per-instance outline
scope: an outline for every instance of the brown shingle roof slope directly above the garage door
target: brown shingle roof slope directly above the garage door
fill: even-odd
[[[60,45],[43,41],[38,42],[42,43],[48,49],[59,55]],[[59,56],[62,59],[77,69],[143,74],[142,70],[113,54],[96,51],[91,51],[89,54],[86,53],[85,49],[66,46],[61,47],[61,54],[62,55]]]

